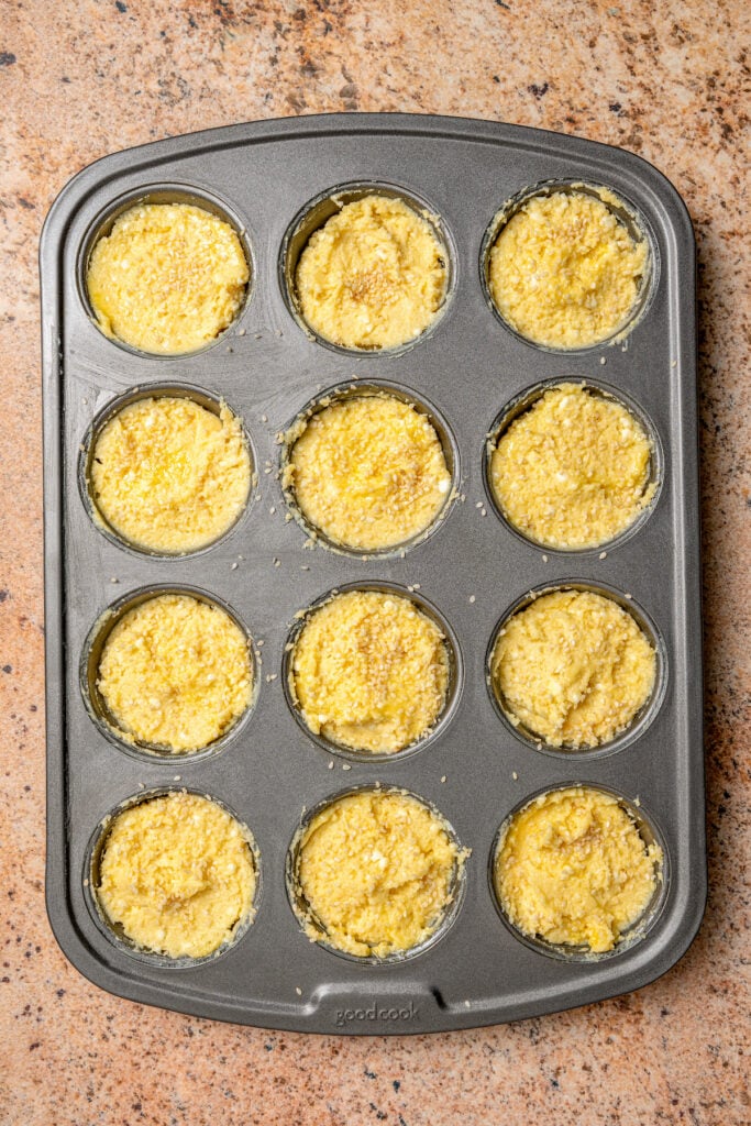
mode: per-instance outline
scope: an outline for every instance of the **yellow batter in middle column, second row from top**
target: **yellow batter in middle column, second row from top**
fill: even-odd
[[[388,395],[333,402],[287,436],[283,483],[310,524],[358,551],[394,547],[424,531],[452,479],[424,414]]]

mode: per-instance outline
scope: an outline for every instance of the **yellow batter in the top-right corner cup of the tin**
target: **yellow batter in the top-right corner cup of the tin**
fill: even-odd
[[[533,196],[490,252],[490,292],[509,324],[538,345],[584,348],[627,321],[647,272],[636,242],[614,215],[611,193]]]

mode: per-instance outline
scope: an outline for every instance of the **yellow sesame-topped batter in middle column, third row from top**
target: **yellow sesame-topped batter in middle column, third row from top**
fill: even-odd
[[[295,644],[292,690],[314,734],[394,753],[435,724],[449,664],[438,626],[408,598],[352,590],[315,610]]]

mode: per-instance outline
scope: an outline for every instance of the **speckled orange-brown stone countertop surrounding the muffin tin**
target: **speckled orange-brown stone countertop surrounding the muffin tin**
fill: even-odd
[[[2,5],[3,1126],[751,1119],[750,30],[742,0]],[[343,109],[461,114],[623,145],[676,184],[698,236],[706,920],[680,964],[638,993],[435,1037],[269,1034],[122,1001],[65,962],[44,911],[44,215],[69,177],[115,150]]]

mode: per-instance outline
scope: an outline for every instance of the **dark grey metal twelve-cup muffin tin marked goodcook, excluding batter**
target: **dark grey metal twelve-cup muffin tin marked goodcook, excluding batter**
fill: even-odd
[[[485,257],[504,205],[535,186],[572,182],[606,185],[627,203],[650,240],[653,269],[627,336],[554,352],[518,338],[490,307]],[[299,253],[299,231],[325,217],[330,205],[321,200],[342,186],[419,200],[441,232],[450,259],[445,309],[409,346],[347,351],[316,340],[296,314],[289,256]],[[87,254],[116,214],[144,198],[195,202],[225,215],[249,256],[240,315],[198,352],[147,356],[108,340],[91,320]],[[41,269],[47,910],[73,964],[104,989],[181,1012],[355,1034],[437,1031],[552,1012],[636,989],[672,966],[699,926],[706,895],[695,259],[690,222],[672,186],[619,150],[494,123],[404,115],[258,122],[158,142],[84,169],[50,213]],[[591,381],[633,402],[656,435],[659,495],[606,548],[540,549],[503,522],[488,491],[489,434],[507,406],[557,379]],[[435,409],[453,455],[456,497],[442,519],[393,552],[359,556],[313,543],[278,477],[280,434],[327,390],[347,386],[393,388]],[[160,391],[204,403],[224,399],[243,420],[257,471],[234,527],[188,556],[123,545],[91,518],[87,493],[92,426],[123,396]],[[352,584],[395,586],[424,600],[450,627],[456,649],[447,714],[429,739],[393,759],[332,753],[299,724],[284,687],[296,615]],[[502,720],[488,690],[499,623],[530,591],[560,586],[613,595],[659,641],[655,697],[636,726],[601,751],[538,750]],[[124,747],[92,699],[96,624],[109,608],[118,613],[154,589],[215,599],[253,640],[252,709],[221,745],[197,756]],[[576,783],[620,795],[665,856],[660,894],[637,940],[606,957],[551,956],[521,940],[499,918],[490,879],[510,813],[540,790]],[[414,956],[370,964],[307,940],[285,872],[306,811],[374,784],[430,803],[472,855],[452,926]],[[256,920],[229,949],[172,965],[134,956],[108,929],[93,903],[91,864],[108,815],[177,787],[216,798],[248,825],[263,887]]]

